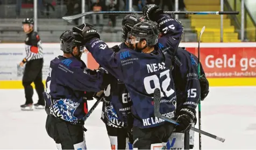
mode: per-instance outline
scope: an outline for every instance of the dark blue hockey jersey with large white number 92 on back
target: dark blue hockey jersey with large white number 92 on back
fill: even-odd
[[[162,119],[154,116],[155,88],[161,89],[160,113],[169,118],[174,117],[176,106],[173,102],[176,103],[176,96],[170,74],[172,62],[159,52],[157,46],[157,54],[138,53],[129,48],[115,53],[97,38],[87,42],[86,46],[99,65],[125,83],[133,103],[134,126],[148,128],[163,124]]]

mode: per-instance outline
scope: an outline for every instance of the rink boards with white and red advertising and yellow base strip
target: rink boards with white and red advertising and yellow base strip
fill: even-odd
[[[107,44],[112,47],[120,42]],[[197,56],[197,43],[181,43],[180,46]],[[25,57],[24,47],[24,44],[0,44],[0,89],[23,88],[17,65]],[[200,47],[200,60],[211,87],[256,85],[256,42],[202,43]],[[62,51],[59,44],[42,44],[42,48],[42,76],[46,80],[49,62]],[[98,67],[90,53],[83,54],[82,60],[90,69]]]

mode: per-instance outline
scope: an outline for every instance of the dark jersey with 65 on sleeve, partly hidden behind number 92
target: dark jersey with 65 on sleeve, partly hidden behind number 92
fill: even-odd
[[[124,42],[118,47],[127,48]],[[132,123],[131,105],[131,97],[124,82],[115,78],[104,89],[101,119],[106,125],[125,127],[128,122]]]

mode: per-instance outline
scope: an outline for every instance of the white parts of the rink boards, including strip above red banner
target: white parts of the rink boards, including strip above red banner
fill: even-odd
[[[107,42],[109,47],[119,45],[120,42]],[[181,43],[181,47],[198,47],[196,42]],[[239,43],[201,43],[201,47],[256,47],[256,42]],[[43,80],[46,80],[49,62],[55,56],[62,55],[60,44],[44,44],[44,67],[42,69]],[[22,80],[17,76],[17,65],[25,58],[24,44],[0,44],[0,80]],[[82,60],[87,64],[87,54],[82,55]]]

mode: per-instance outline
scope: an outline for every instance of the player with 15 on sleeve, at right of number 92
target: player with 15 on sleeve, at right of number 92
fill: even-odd
[[[201,101],[203,101],[209,92],[209,82],[201,64],[202,77],[198,80],[197,62],[197,57],[184,47],[177,49],[173,61],[172,75],[177,94],[177,122],[181,126],[175,127],[175,131],[167,143],[167,149],[193,149],[194,147],[194,131],[191,131],[190,128],[196,124],[196,107],[200,95]],[[181,116],[180,113],[184,110],[190,113]],[[184,127],[182,128],[182,126]]]

